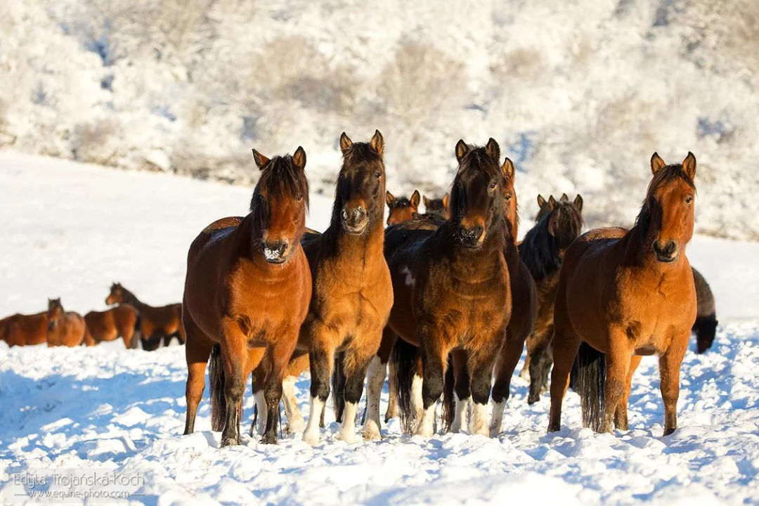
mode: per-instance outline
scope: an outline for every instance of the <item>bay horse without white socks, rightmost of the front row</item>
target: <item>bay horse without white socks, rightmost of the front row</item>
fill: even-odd
[[[586,232],[565,253],[554,306],[549,432],[560,428],[581,343],[603,354],[593,364],[578,357],[584,424],[627,430],[632,373],[641,356],[657,354],[664,435],[677,428],[680,365],[697,311],[685,256],[693,235],[696,158],[688,152],[682,164],[666,165],[653,153],[650,165],[653,178],[635,225]]]

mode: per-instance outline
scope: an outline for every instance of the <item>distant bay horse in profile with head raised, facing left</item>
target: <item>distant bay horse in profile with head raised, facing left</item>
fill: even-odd
[[[140,340],[144,350],[156,350],[163,341],[164,346],[177,338],[179,344],[184,344],[184,328],[182,327],[182,305],[148,306],[140,302],[131,291],[121,286],[121,283],[111,285],[111,293],[106,297],[106,304],[129,304],[140,313]]]

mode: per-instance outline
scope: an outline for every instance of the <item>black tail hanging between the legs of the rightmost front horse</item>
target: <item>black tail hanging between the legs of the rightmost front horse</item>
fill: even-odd
[[[606,355],[582,343],[577,357],[576,391],[580,394],[582,426],[598,432],[603,422],[603,395],[606,385]]]

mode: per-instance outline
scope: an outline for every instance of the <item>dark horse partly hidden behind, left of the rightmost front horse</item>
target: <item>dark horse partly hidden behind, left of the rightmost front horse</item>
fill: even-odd
[[[553,302],[559,284],[559,269],[565,251],[582,230],[582,196],[570,203],[566,195],[556,202],[553,196],[541,206],[538,222],[524,236],[519,254],[537,285],[537,320],[527,339],[525,367],[530,371],[528,404],[540,400],[540,392],[548,384],[553,364]]]

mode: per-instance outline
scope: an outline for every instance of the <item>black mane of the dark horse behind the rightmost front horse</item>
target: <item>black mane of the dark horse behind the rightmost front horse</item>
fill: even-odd
[[[556,215],[556,233],[550,234]],[[572,203],[560,203],[524,235],[519,255],[535,281],[553,274],[562,266],[563,251],[580,236],[582,215]]]

